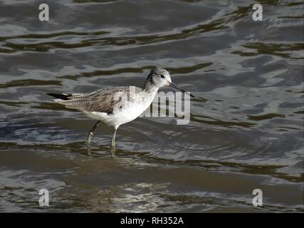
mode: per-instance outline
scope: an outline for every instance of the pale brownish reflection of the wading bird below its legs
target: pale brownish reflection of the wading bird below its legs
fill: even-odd
[[[125,156],[134,155],[132,151],[117,149],[120,156],[115,156],[115,150],[110,150],[109,156],[109,148],[100,149],[95,149],[90,157],[80,158],[82,162],[78,162],[73,175],[65,177],[67,187],[58,192],[60,198],[73,204],[78,202],[90,212],[152,212],[168,203],[163,196],[168,183],[152,183],[147,175],[137,175],[138,170],[152,165]]]

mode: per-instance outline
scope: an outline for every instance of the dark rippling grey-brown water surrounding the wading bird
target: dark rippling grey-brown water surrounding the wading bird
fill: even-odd
[[[303,1],[43,2],[48,22],[0,1],[1,212],[303,212]],[[122,125],[115,158],[102,125],[88,157],[94,121],[46,93],[142,86],[154,66],[198,97],[191,122]]]

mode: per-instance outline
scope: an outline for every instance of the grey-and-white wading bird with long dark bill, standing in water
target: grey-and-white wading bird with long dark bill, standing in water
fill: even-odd
[[[56,99],[57,103],[66,108],[74,108],[82,111],[90,118],[98,120],[88,132],[88,154],[90,155],[90,140],[94,130],[100,122],[114,128],[111,142],[111,152],[115,151],[115,135],[117,128],[128,123],[142,114],[152,103],[157,90],[163,86],[187,93],[171,81],[169,72],[163,68],[154,68],[150,71],[142,88],[135,86],[108,87],[96,90],[92,93],[47,93]],[[194,95],[190,94],[194,97]]]

